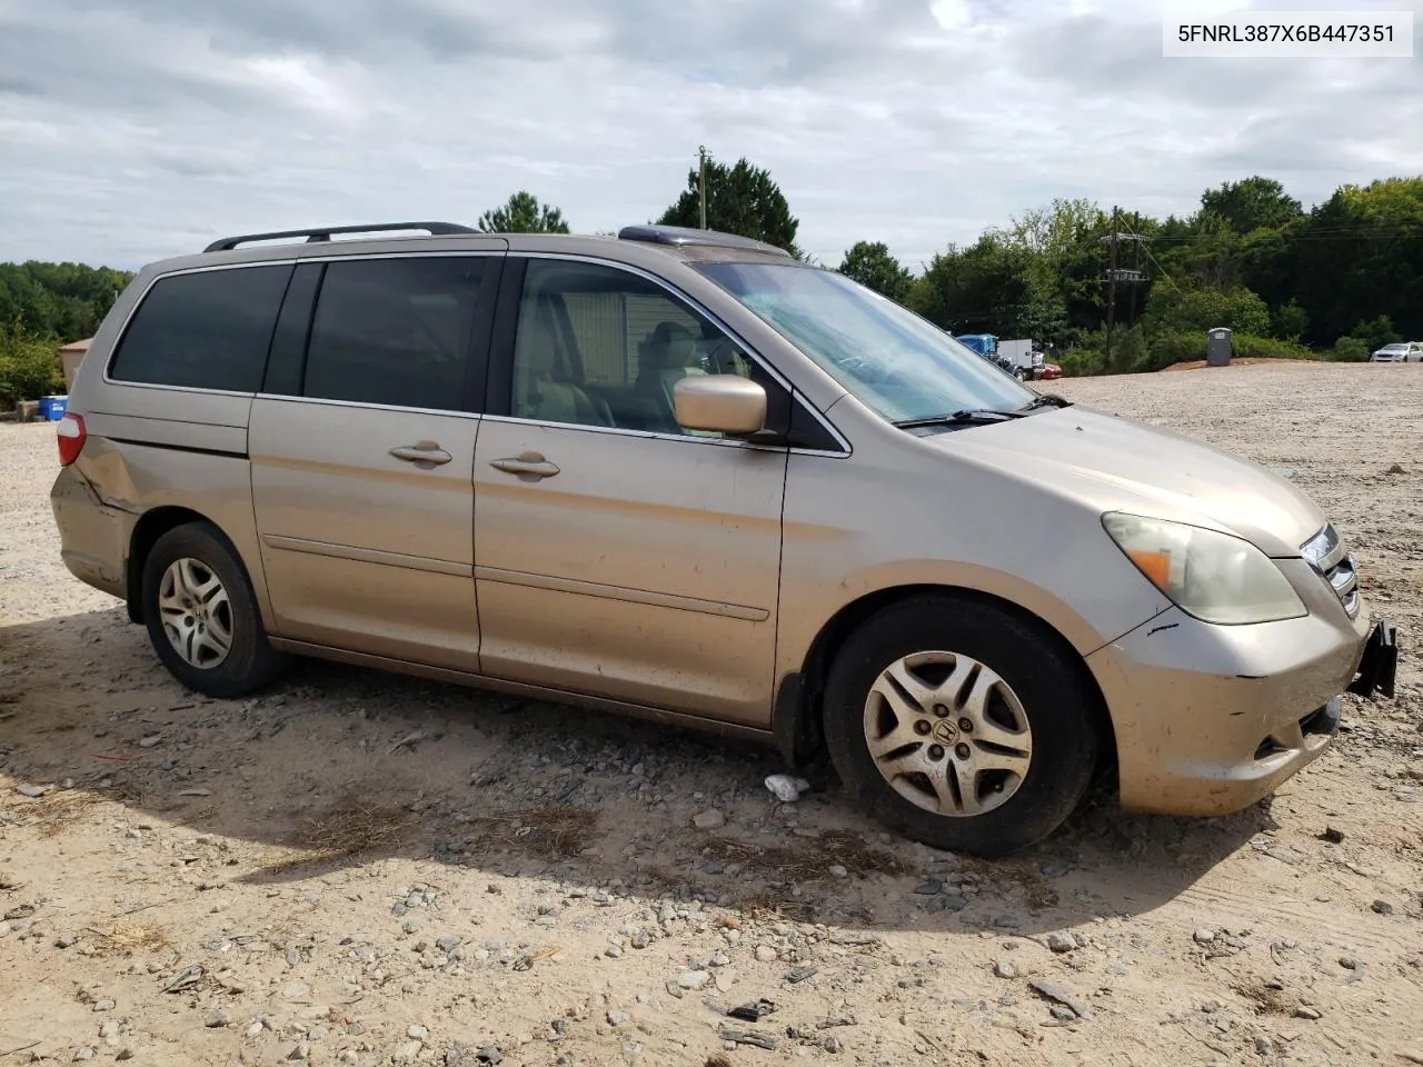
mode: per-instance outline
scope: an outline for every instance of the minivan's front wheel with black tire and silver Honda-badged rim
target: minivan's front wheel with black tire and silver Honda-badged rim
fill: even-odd
[[[1042,841],[1081,802],[1101,747],[1070,654],[969,598],[878,612],[825,686],[825,743],[847,791],[933,848],[999,856]]]

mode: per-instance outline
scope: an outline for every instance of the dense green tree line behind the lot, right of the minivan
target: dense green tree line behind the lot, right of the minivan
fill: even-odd
[[[896,266],[867,245],[841,269],[869,269],[955,333],[1042,340],[1067,373],[1201,359],[1205,331],[1222,326],[1239,356],[1363,360],[1423,337],[1423,178],[1345,185],[1305,211],[1257,175],[1165,219],[1059,199],[951,246],[918,277]]]

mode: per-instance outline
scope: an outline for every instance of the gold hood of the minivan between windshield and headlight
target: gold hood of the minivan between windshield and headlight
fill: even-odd
[[[1100,511],[1210,526],[1275,558],[1299,556],[1326,522],[1301,489],[1249,460],[1079,404],[924,441]]]

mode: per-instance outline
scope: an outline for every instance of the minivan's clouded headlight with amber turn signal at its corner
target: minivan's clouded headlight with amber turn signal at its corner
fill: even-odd
[[[1308,615],[1279,568],[1248,541],[1121,512],[1103,515],[1101,525],[1151,585],[1202,622],[1238,626]]]

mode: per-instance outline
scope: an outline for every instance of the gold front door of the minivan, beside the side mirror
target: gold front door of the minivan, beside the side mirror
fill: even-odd
[[[764,727],[787,450],[672,414],[679,377],[750,357],[640,275],[561,259],[528,260],[511,349],[474,455],[484,673]]]

